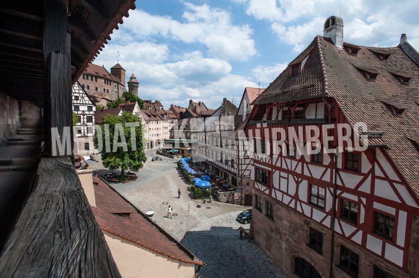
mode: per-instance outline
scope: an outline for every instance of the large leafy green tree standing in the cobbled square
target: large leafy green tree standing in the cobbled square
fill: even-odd
[[[135,127],[135,146],[136,150],[132,150],[131,142],[131,127],[127,126],[129,122],[138,122],[139,126]],[[114,142],[114,134],[115,134],[115,125],[122,124],[123,135],[125,137],[127,143],[127,149],[124,150],[123,147],[116,147],[116,152],[114,150],[114,143],[121,142],[121,133],[119,133],[117,137],[117,141]],[[105,148],[105,124],[109,125],[109,141],[110,141],[110,152],[106,152]],[[141,127],[141,120],[137,115],[132,115],[130,113],[122,112],[121,116],[114,116],[114,115],[107,115],[105,116],[100,124],[102,128],[102,142],[104,144],[101,157],[103,165],[108,168],[109,170],[116,170],[121,168],[121,176],[120,178],[123,179],[125,170],[129,169],[131,171],[138,171],[138,169],[143,167],[143,162],[147,160],[146,155],[143,151],[143,132]],[[118,128],[116,129],[118,132]],[[93,138],[93,142],[95,144],[95,148],[99,148],[99,132],[95,133]]]

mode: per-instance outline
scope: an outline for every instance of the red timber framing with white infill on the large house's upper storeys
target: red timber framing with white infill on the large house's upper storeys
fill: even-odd
[[[318,100],[306,100],[286,103],[289,107],[296,107],[303,103],[314,103]],[[334,124],[328,134],[333,136],[329,146],[337,146],[337,124],[348,123],[338,104],[327,99],[325,110],[328,112],[328,123]],[[269,109],[283,107],[285,103],[276,103],[263,107],[266,115]],[[256,106],[255,108],[258,108]],[[344,145],[345,152],[338,153],[337,165],[333,154],[322,156],[322,163],[311,162],[310,155],[297,155],[296,158],[283,156],[282,152],[273,153],[272,145],[274,128],[284,128],[288,138],[289,127],[294,128],[299,138],[307,142],[305,125],[293,123],[275,123],[266,121],[252,121],[254,109],[250,115],[245,131],[247,136],[257,134],[258,140],[266,140],[266,154],[255,153],[253,159],[252,180],[255,193],[260,192],[277,200],[278,203],[289,206],[306,218],[310,218],[327,229],[334,230],[334,234],[348,240],[348,244],[356,244],[364,250],[382,259],[384,262],[407,272],[409,262],[410,232],[412,216],[419,215],[418,199],[411,188],[397,171],[383,147],[369,146],[359,155],[359,170],[345,169],[345,154],[352,152],[354,146]],[[320,128],[321,124],[316,124]],[[301,129],[302,127],[302,129]],[[300,129],[299,129],[300,128]],[[351,140],[354,142],[353,130]],[[300,137],[301,136],[301,137]],[[320,132],[320,142],[323,138]],[[335,175],[335,167],[337,167]],[[255,182],[255,168],[267,170],[269,183],[267,186]],[[336,179],[335,179],[336,176]],[[310,185],[317,185],[325,189],[324,209],[310,202]],[[334,198],[336,188],[336,198]],[[258,193],[259,192],[259,193]],[[357,223],[346,221],[341,217],[341,202],[348,200],[358,205]],[[335,211],[333,210],[335,203]],[[393,239],[383,238],[374,233],[374,213],[379,212],[394,218]],[[350,243],[349,243],[350,242]],[[334,262],[336,263],[336,262]]]

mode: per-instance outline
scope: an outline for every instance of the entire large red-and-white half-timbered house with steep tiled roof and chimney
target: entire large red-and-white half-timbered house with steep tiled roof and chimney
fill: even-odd
[[[419,276],[418,64],[406,35],[395,47],[350,44],[332,16],[252,103],[251,230],[287,275]],[[354,148],[358,122],[368,128],[365,151]],[[353,143],[338,146],[343,123]],[[305,142],[308,126],[326,125],[318,154],[276,144],[281,128]]]

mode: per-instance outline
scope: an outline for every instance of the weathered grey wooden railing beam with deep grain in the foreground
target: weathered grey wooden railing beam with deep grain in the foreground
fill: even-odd
[[[68,158],[43,158],[0,255],[0,277],[119,277]]]

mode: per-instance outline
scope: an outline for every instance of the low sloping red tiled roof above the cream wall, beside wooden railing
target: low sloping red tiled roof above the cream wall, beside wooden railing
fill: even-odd
[[[120,238],[125,238],[171,259],[203,265],[199,259],[187,255],[179,247],[180,243],[171,240],[159,231],[156,225],[139,214],[134,207],[110,189],[103,181],[93,177],[93,182],[96,207],[91,208],[102,230]]]

